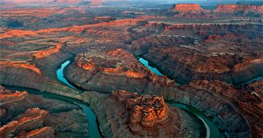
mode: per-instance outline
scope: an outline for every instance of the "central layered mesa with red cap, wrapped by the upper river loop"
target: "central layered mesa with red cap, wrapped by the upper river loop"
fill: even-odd
[[[174,83],[167,77],[155,75],[131,53],[114,48],[87,50],[76,55],[64,75],[78,87],[101,92],[118,89],[143,92]],[[151,86],[147,85],[149,82]]]

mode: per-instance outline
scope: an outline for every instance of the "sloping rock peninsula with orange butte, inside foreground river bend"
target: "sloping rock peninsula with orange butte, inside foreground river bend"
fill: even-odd
[[[97,99],[91,106],[105,137],[204,137],[202,122],[162,97],[118,90]]]

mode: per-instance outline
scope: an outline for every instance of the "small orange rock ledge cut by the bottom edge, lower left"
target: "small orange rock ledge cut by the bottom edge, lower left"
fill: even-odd
[[[30,132],[21,132],[19,135],[17,135],[17,138],[23,138],[23,137],[28,137],[28,138],[55,138],[54,133],[56,131],[54,128],[47,126],[44,128],[39,128],[36,130],[32,130]]]

